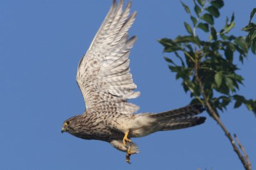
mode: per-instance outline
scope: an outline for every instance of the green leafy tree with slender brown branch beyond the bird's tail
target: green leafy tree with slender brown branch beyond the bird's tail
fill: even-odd
[[[193,2],[195,14],[181,2],[191,19],[191,25],[184,22],[188,35],[177,36],[175,39],[159,39],[159,43],[164,46],[164,52],[175,55],[175,58],[164,57],[164,59],[169,63],[170,70],[176,73],[176,79],[182,80],[184,91],[190,92],[191,104],[204,104],[207,113],[225,132],[244,169],[252,169],[243,145],[236,134],[232,136],[221,122],[219,112],[227,110],[227,106],[234,101],[234,108],[244,104],[256,115],[256,101],[237,94],[244,79],[236,73],[239,68],[234,63],[234,57],[237,55],[239,62],[243,63],[250,47],[255,53],[256,27],[253,24],[252,28],[251,20],[256,10],[252,11],[249,26],[244,28],[244,31],[250,34],[245,40],[242,36],[229,33],[235,25],[234,13],[230,20],[227,18],[223,29],[217,31],[214,28],[214,19],[220,17],[219,10],[224,6],[223,0]],[[198,29],[208,33],[209,39],[201,39],[196,34]]]

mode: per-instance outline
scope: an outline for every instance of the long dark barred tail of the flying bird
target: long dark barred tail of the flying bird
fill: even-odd
[[[152,131],[170,131],[175,129],[184,129],[195,125],[200,125],[205,122],[205,117],[195,117],[204,111],[205,108],[200,104],[193,104],[179,108],[176,110],[164,111],[156,114],[145,114],[150,118],[153,124]]]

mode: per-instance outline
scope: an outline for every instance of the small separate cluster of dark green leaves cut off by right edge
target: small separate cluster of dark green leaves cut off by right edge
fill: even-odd
[[[248,32],[248,35],[246,36],[246,48],[251,48],[252,52],[256,54],[256,24],[252,22],[252,18],[256,13],[256,8],[253,8],[249,24],[246,25],[242,30]]]

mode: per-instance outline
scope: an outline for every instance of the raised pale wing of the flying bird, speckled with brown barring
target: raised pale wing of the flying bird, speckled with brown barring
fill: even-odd
[[[86,110],[134,113],[139,109],[127,102],[140,96],[134,92],[129,69],[129,53],[136,37],[128,39],[127,31],[136,12],[130,14],[131,3],[123,11],[124,1],[113,1],[108,15],[77,68],[77,84],[83,94]]]

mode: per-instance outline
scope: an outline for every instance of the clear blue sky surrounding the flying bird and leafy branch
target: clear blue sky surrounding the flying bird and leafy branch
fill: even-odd
[[[0,162],[1,169],[243,169],[220,127],[207,117],[204,125],[158,132],[133,139],[141,153],[125,162],[125,153],[102,141],[86,141],[61,134],[64,120],[83,113],[76,69],[112,1],[0,2]],[[184,3],[191,4],[191,1]],[[231,32],[245,35],[256,4],[225,1],[216,27],[235,12]],[[133,1],[138,11],[129,31],[138,36],[132,48],[131,72],[141,96],[132,102],[140,112],[160,112],[189,103],[180,81],[163,59],[159,38],[186,34],[189,17],[179,1]],[[202,32],[198,32],[202,36]],[[244,87],[239,94],[256,98],[256,57],[250,53],[241,67]],[[221,119],[243,143],[256,167],[256,118],[244,106],[221,114]]]

